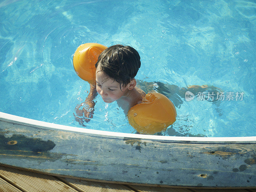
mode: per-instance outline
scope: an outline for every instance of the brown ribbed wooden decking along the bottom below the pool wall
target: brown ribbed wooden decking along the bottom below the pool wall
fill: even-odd
[[[256,192],[256,189],[190,189],[122,185],[45,175],[0,165],[0,192]]]

